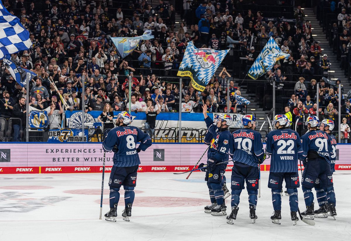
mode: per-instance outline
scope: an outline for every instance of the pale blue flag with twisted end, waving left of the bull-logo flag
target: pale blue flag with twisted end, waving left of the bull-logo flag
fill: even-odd
[[[127,55],[131,54],[134,51],[134,49],[136,49],[139,46],[140,40],[153,39],[154,36],[151,33],[151,30],[147,29],[141,36],[133,38],[113,37],[111,38],[111,40],[116,46],[119,55],[122,57],[122,59],[124,59]]]

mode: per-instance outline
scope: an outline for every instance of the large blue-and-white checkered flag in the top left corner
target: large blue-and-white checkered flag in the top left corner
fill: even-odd
[[[0,0],[0,59],[8,54],[27,50],[31,45],[29,32],[17,17],[7,11]]]

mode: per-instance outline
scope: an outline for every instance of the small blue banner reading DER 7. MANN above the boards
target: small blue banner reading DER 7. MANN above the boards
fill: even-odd
[[[88,130],[84,130],[84,137],[82,136],[82,129],[61,128],[49,130],[49,139],[47,142],[86,142]],[[84,140],[83,140],[84,138]]]

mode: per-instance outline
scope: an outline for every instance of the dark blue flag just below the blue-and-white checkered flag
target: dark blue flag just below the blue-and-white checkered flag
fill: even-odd
[[[10,72],[11,76],[22,86],[25,87],[31,79],[34,78],[34,76],[37,76],[36,73],[24,69],[21,67],[18,67],[12,60],[10,56],[5,56],[3,59],[3,62],[5,64],[5,67],[8,69]],[[27,77],[27,73],[29,73]]]

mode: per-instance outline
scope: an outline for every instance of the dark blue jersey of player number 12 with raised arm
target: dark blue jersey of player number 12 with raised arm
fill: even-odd
[[[229,151],[232,146],[232,135],[228,129],[220,129],[213,135],[207,157],[215,162],[229,160]]]

